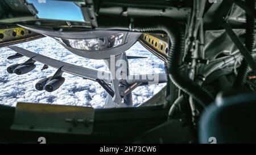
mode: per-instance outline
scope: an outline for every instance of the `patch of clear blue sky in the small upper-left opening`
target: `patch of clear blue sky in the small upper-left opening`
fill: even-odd
[[[84,22],[79,6],[73,2],[52,0],[27,0],[38,10],[39,18]]]

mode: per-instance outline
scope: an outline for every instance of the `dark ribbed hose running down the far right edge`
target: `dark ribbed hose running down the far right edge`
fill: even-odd
[[[252,10],[254,10],[255,7],[255,0],[246,0],[246,3],[249,7],[251,7]],[[248,49],[248,51],[250,53],[253,52],[253,48],[254,48],[254,35],[255,35],[255,31],[254,31],[254,17],[246,14],[246,36],[245,36],[245,46]],[[250,67],[247,64],[247,62],[245,60],[242,61],[242,64],[240,66],[240,68],[238,69],[238,74],[237,77],[234,81],[234,85],[233,87],[235,89],[238,89],[242,86],[245,85],[246,83],[246,78],[248,76],[248,73],[250,71]]]

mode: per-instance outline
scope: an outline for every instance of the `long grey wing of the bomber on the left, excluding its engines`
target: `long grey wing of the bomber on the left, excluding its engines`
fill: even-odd
[[[32,58],[32,60],[41,62],[42,64],[46,64],[48,66],[51,66],[53,68],[61,68],[63,72],[67,72],[69,74],[73,74],[75,76],[79,76],[82,78],[90,79],[93,81],[96,81],[97,75],[98,74],[104,74],[106,79],[106,83],[110,83],[110,73],[96,70],[96,69],[89,69],[89,68],[84,68],[82,66],[77,66],[73,64],[69,64],[67,62],[55,60],[53,58],[49,58],[43,55],[40,55],[38,53],[34,53],[31,51],[28,51],[26,49],[16,47],[16,46],[9,46],[10,49],[13,49],[14,51],[18,52],[20,55],[26,56],[28,58]],[[107,78],[109,77],[109,78]]]

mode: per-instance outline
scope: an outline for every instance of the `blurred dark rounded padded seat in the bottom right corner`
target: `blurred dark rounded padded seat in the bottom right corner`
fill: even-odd
[[[199,142],[256,143],[256,94],[217,97],[203,112]],[[215,142],[215,141],[214,141]]]

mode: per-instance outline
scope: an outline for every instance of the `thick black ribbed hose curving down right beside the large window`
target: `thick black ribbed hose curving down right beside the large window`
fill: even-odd
[[[185,45],[184,29],[181,25],[165,17],[151,18],[150,21],[154,21],[156,24],[152,24],[152,22],[148,21],[149,20],[135,21],[132,30],[138,32],[164,31],[167,33],[171,41],[171,48],[167,58],[168,76],[171,81],[176,87],[184,91],[184,93],[191,95],[201,106],[205,107],[212,102],[214,98],[208,90],[197,85],[197,83],[193,82],[191,79],[186,78],[180,71],[183,65]]]

